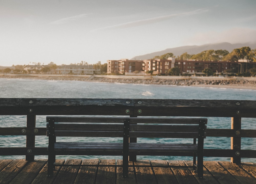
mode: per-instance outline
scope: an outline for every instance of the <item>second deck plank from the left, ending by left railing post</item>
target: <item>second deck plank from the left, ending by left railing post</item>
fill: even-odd
[[[25,159],[22,160],[13,160],[0,172],[0,183],[7,184],[10,183],[25,165],[28,163]]]

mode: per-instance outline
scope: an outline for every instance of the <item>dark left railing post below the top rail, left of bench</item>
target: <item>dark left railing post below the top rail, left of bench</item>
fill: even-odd
[[[36,127],[36,115],[27,115],[27,128]],[[26,147],[35,147],[35,135],[27,135]],[[33,153],[31,149],[27,150],[28,153]],[[35,155],[26,155],[27,161],[33,161]]]

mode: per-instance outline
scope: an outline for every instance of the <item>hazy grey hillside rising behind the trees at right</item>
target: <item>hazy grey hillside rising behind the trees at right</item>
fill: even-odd
[[[227,42],[223,43],[216,43],[216,44],[205,44],[205,45],[191,45],[191,46],[183,46],[183,47],[175,47],[175,48],[170,48],[170,49],[165,49],[162,51],[158,52],[153,52],[150,54],[145,54],[145,55],[140,55],[140,56],[135,56],[131,58],[130,60],[144,60],[144,59],[151,59],[155,56],[160,56],[166,53],[173,53],[175,56],[179,56],[185,52],[188,54],[198,54],[202,51],[205,50],[227,50],[231,52],[233,49],[241,48],[241,47],[250,47],[251,49],[256,49],[256,43],[236,43],[236,44],[231,44]]]

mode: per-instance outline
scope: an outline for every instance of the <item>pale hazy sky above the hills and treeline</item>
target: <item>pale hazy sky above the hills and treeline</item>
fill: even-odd
[[[255,0],[1,0],[0,65],[106,63],[256,42]]]

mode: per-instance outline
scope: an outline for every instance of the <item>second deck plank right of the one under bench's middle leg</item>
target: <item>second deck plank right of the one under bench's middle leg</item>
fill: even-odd
[[[159,166],[159,165],[168,166],[168,163],[165,160],[151,160],[151,164],[153,166]],[[177,183],[178,184],[178,181],[176,180],[170,168],[154,167],[153,170],[155,172],[156,180],[158,183],[161,183],[161,184]]]

